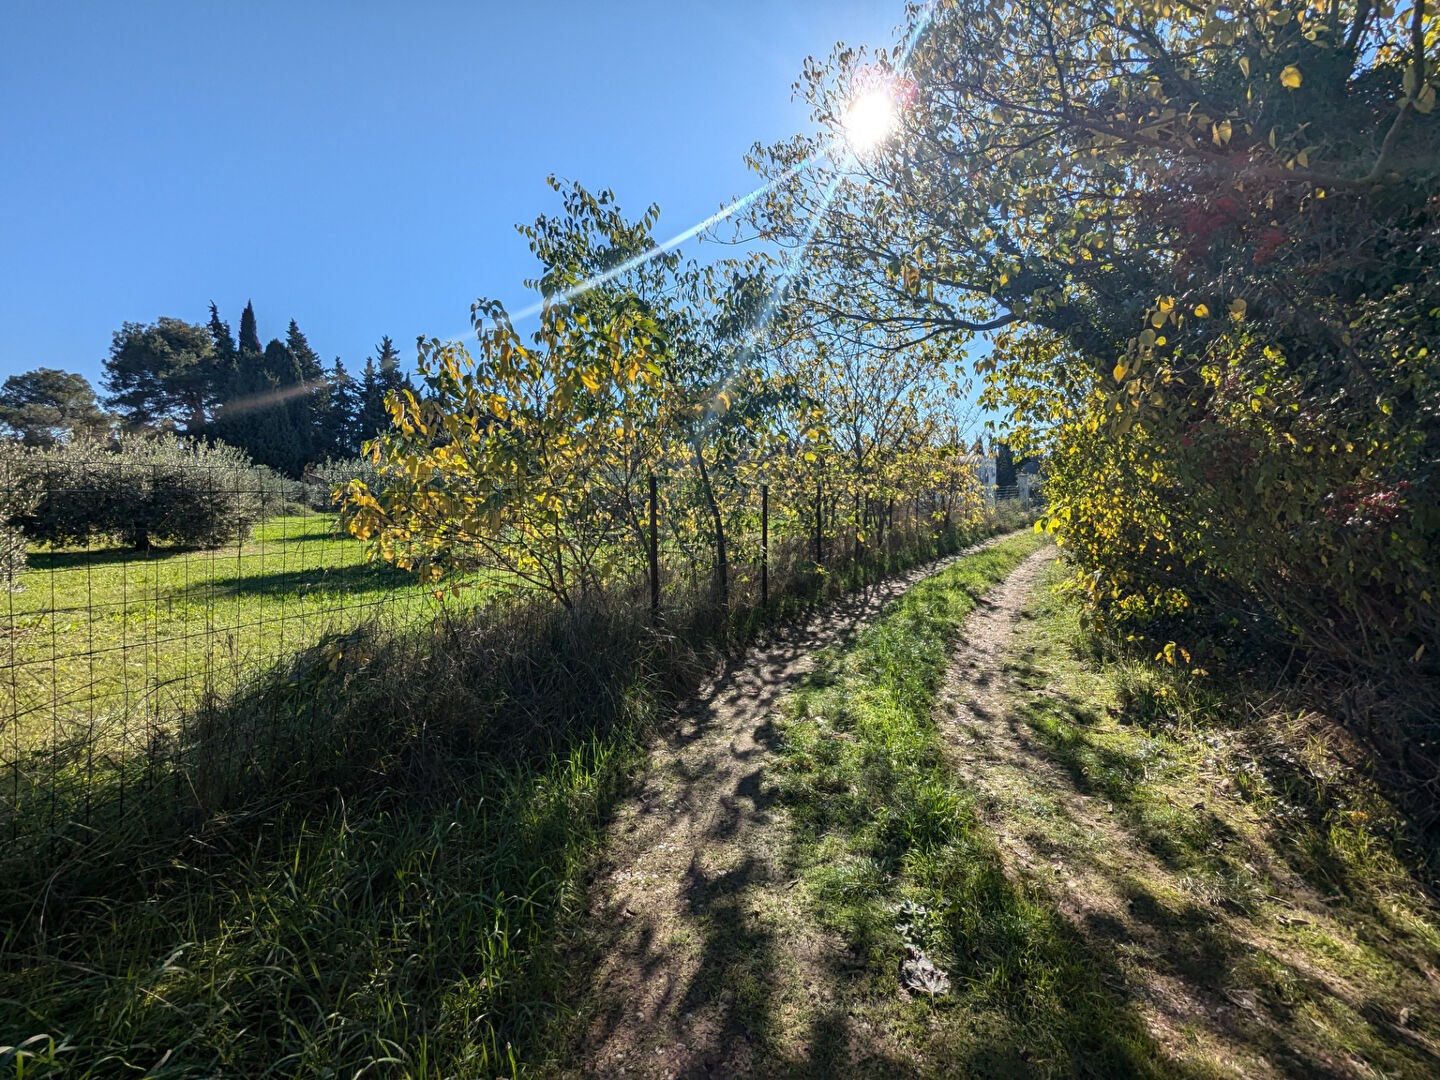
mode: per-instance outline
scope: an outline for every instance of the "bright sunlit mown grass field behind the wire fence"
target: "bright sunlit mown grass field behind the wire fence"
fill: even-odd
[[[334,514],[275,517],[209,552],[37,550],[22,580],[0,598],[12,746],[167,721],[361,618],[436,611],[409,575],[369,563]]]

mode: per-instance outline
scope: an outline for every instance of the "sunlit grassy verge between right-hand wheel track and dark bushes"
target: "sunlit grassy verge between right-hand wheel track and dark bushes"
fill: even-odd
[[[1032,613],[1018,713],[1151,855],[1117,877],[1132,910],[1164,926],[1166,962],[1251,994],[1240,1037],[1286,1071],[1440,1071],[1433,852],[1346,765],[1339,729],[1257,707],[1270,687],[1103,648],[1053,588]],[[1083,834],[1047,831],[1077,861],[1107,858]]]

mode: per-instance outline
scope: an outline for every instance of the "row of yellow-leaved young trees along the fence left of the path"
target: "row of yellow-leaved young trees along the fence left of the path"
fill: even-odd
[[[657,207],[631,222],[609,192],[554,187],[563,215],[521,229],[540,328],[526,341],[481,301],[475,359],[422,343],[422,386],[389,396],[372,445],[387,488],[346,500],[382,557],[428,577],[488,566],[572,605],[642,573],[655,477],[667,547],[708,567],[723,608],[760,554],[762,485],[769,537],[814,537],[816,563],[827,533],[848,527],[858,559],[976,513],[940,350],[816,344],[765,259],[684,264],[655,246]]]

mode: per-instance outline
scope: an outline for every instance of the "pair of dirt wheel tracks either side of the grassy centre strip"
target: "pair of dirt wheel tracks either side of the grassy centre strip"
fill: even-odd
[[[994,835],[1007,877],[1051,906],[1096,955],[1113,958],[1110,991],[1187,1074],[1385,1074],[1329,1027],[1333,1011],[1303,1004],[1331,998],[1367,1017],[1380,1043],[1407,1045],[1410,1061],[1434,1060],[1440,1076],[1440,1051],[1413,1030],[1410,1009],[1378,1017],[1368,1001],[1372,985],[1348,981],[1296,945],[1305,935],[1351,937],[1344,913],[1276,854],[1283,837],[1270,824],[1204,788],[1205,776],[1187,780],[1182,809],[1215,815],[1210,824],[1243,851],[1244,873],[1269,888],[1248,910],[1223,890],[1207,899],[1192,871],[1159,857],[1153,837],[1089,791],[1074,763],[1067,768],[1027,721],[1037,701],[1068,710],[1086,730],[1117,714],[1112,707],[1107,716],[1099,698],[1081,700],[1090,690],[1067,691],[1054,654],[1034,655],[1054,648],[1030,634],[1054,556],[1043,549],[979,600],[936,716],[949,763]],[[577,969],[592,975],[579,994],[579,1045],[566,1074],[812,1076],[837,1044],[850,1045],[848,1060],[874,1053],[926,1071],[906,1047],[881,1045],[894,1031],[871,1024],[847,995],[855,958],[805,909],[772,779],[772,716],[819,649],[844,644],[943,564],[851,596],[762,644],[720,672],[655,747],[641,789],[611,825],[608,861],[588,899],[593,940]],[[1300,1004],[1287,1011],[1263,999],[1257,971],[1280,972],[1303,989]],[[1416,976],[1414,991],[1404,991],[1414,1008],[1436,999],[1431,972],[1421,973],[1430,981]]]

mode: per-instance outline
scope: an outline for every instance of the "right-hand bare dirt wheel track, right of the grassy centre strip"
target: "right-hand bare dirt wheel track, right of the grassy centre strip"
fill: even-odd
[[[1024,644],[1027,621],[1035,618],[1027,600],[1038,602],[1035,585],[1053,556],[1054,549],[1032,556],[971,616],[937,717],[955,772],[975,796],[1008,876],[1045,897],[1096,955],[1115,959],[1119,981],[1112,988],[1130,999],[1174,1061],[1236,1077],[1374,1076],[1358,1053],[1296,1040],[1263,1007],[1246,963],[1283,965],[1296,981],[1355,1008],[1364,1007],[1364,991],[1290,948],[1233,899],[1207,896],[1192,870],[1158,857],[1153,837],[1139,834],[1133,818],[1102,795],[1081,791],[1081,778],[1025,721],[1027,703],[1044,697],[1093,730],[1110,723],[1094,713],[1094,701],[1054,685],[1047,662],[1032,664],[1034,648]],[[1201,798],[1191,806],[1195,795]],[[1197,816],[1223,814],[1231,825],[1247,815],[1218,798],[1191,792],[1185,808]],[[1236,831],[1228,835],[1225,842],[1240,844]],[[1251,870],[1263,864],[1273,890],[1264,899],[1289,913],[1282,924],[1335,929],[1326,901],[1282,860],[1259,848],[1248,858]],[[1384,1035],[1434,1053],[1397,1024],[1378,1025]]]

